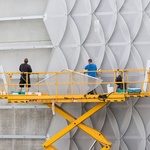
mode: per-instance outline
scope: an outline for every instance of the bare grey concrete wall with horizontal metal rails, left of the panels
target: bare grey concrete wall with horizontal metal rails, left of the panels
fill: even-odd
[[[47,0],[0,1],[0,65],[5,71],[18,72],[25,57],[33,71],[47,70],[51,41],[43,22],[46,5]],[[45,105],[1,100],[0,150],[41,150],[51,119]]]

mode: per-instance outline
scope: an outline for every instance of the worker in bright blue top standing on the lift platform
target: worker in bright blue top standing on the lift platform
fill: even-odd
[[[97,72],[96,72],[97,66],[96,64],[92,62],[92,59],[88,59],[88,65],[86,65],[84,69],[88,71],[89,76],[94,77],[94,78],[97,77]],[[93,80],[93,78],[88,78],[88,82],[93,82],[93,81],[95,81],[95,79]],[[89,84],[89,89],[90,90],[92,89],[92,91],[88,92],[88,94],[96,93],[96,90],[93,88],[94,86],[92,84]]]

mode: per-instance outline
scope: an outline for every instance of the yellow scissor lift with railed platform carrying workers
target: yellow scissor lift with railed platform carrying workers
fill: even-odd
[[[84,72],[85,73],[85,72]],[[83,123],[88,117],[99,111],[101,108],[106,106],[110,102],[124,102],[130,97],[148,97],[150,96],[149,91],[149,74],[148,70],[138,69],[138,70],[100,70],[97,71],[98,76],[101,79],[104,78],[103,81],[96,80],[83,80],[84,78],[88,79],[88,75],[83,74],[83,72],[75,72],[75,71],[63,71],[63,72],[34,72],[31,74],[31,77],[36,78],[36,82],[31,84],[31,88],[36,89],[35,92],[28,92],[28,84],[26,84],[25,89],[26,92],[12,92],[17,91],[19,88],[19,84],[13,82],[13,76],[20,76],[19,72],[7,72],[1,73],[3,77],[7,78],[7,83],[0,84],[1,86],[1,99],[7,99],[8,103],[44,103],[66,120],[70,122],[70,124],[58,132],[56,135],[48,139],[45,143],[42,144],[45,150],[57,150],[52,144],[59,140],[66,133],[74,129],[75,127],[80,128],[92,138],[97,140],[101,145],[101,150],[110,150],[112,143],[107,140],[107,138],[99,131],[91,128],[90,126]],[[121,74],[122,82],[116,82],[116,76]],[[44,76],[46,76],[45,79]],[[60,76],[63,78],[60,78]],[[51,80],[52,78],[52,80]],[[75,81],[78,80],[79,81]],[[136,79],[137,78],[137,79]],[[140,79],[142,78],[142,81]],[[144,80],[145,78],[145,80]],[[28,80],[28,73],[26,73],[26,79]],[[47,80],[48,79],[48,80]],[[60,80],[61,79],[61,80]],[[111,79],[110,82],[105,82],[105,80]],[[31,79],[32,81],[32,79]],[[45,82],[46,81],[46,82]],[[120,83],[123,85],[122,90],[117,91],[117,84]],[[86,94],[85,88],[90,85],[102,86],[106,87],[106,85],[110,84],[113,87],[113,92],[105,91],[99,92],[97,94]],[[68,93],[60,93],[63,87],[67,89],[71,89]],[[128,92],[128,87],[138,86],[141,88],[140,92]],[[61,86],[61,88],[60,88]],[[81,92],[75,93],[75,86],[81,90]],[[43,88],[49,88],[49,90],[53,89],[54,93],[42,92]],[[146,92],[146,87],[148,87],[148,91]],[[31,89],[32,90],[32,89]],[[7,91],[7,92],[6,92]],[[97,103],[93,108],[84,113],[79,118],[75,118],[60,106],[57,103]]]

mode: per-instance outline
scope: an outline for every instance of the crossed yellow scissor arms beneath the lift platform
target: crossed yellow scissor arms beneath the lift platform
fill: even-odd
[[[94,139],[96,139],[97,141],[99,141],[104,147],[106,147],[107,150],[110,149],[111,147],[111,142],[109,142],[102,133],[100,133],[99,131],[81,123],[84,120],[86,120],[88,117],[90,117],[91,115],[93,115],[95,112],[97,112],[98,110],[100,110],[101,108],[103,108],[105,105],[107,105],[108,103],[106,102],[102,102],[97,104],[96,106],[94,106],[92,109],[90,109],[88,112],[86,112],[85,114],[83,114],[82,116],[80,116],[79,118],[75,118],[74,116],[72,116],[71,114],[69,114],[68,112],[66,112],[65,110],[63,110],[61,107],[59,107],[58,105],[55,105],[55,111],[57,113],[59,113],[60,115],[62,115],[65,119],[67,119],[68,121],[70,121],[70,125],[68,125],[67,127],[65,127],[64,129],[62,129],[60,132],[58,132],[56,135],[54,135],[52,138],[50,138],[49,140],[47,140],[45,143],[43,143],[43,147],[46,148],[47,150],[49,150],[48,148],[50,148],[52,146],[52,144],[57,141],[59,138],[61,138],[62,136],[64,136],[66,133],[68,133],[70,130],[72,130],[73,128],[75,128],[76,126],[78,126],[80,129],[82,129],[84,132],[86,132],[87,134],[89,134],[90,136],[92,136]],[[52,104],[47,104],[50,108],[52,108]],[[53,150],[53,149],[52,149]]]

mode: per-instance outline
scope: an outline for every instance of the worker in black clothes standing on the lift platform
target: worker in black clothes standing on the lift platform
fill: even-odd
[[[20,86],[19,91],[21,92],[22,88],[24,87],[25,84],[26,84],[26,86],[28,85],[27,88],[31,87],[31,84],[30,84],[30,73],[32,72],[32,68],[28,64],[28,58],[24,59],[24,63],[22,63],[20,65],[19,70],[22,72],[21,73],[21,77],[20,77],[20,82],[19,82],[19,86]],[[24,72],[26,72],[26,73],[24,73]],[[27,79],[26,79],[26,77],[27,77]]]

